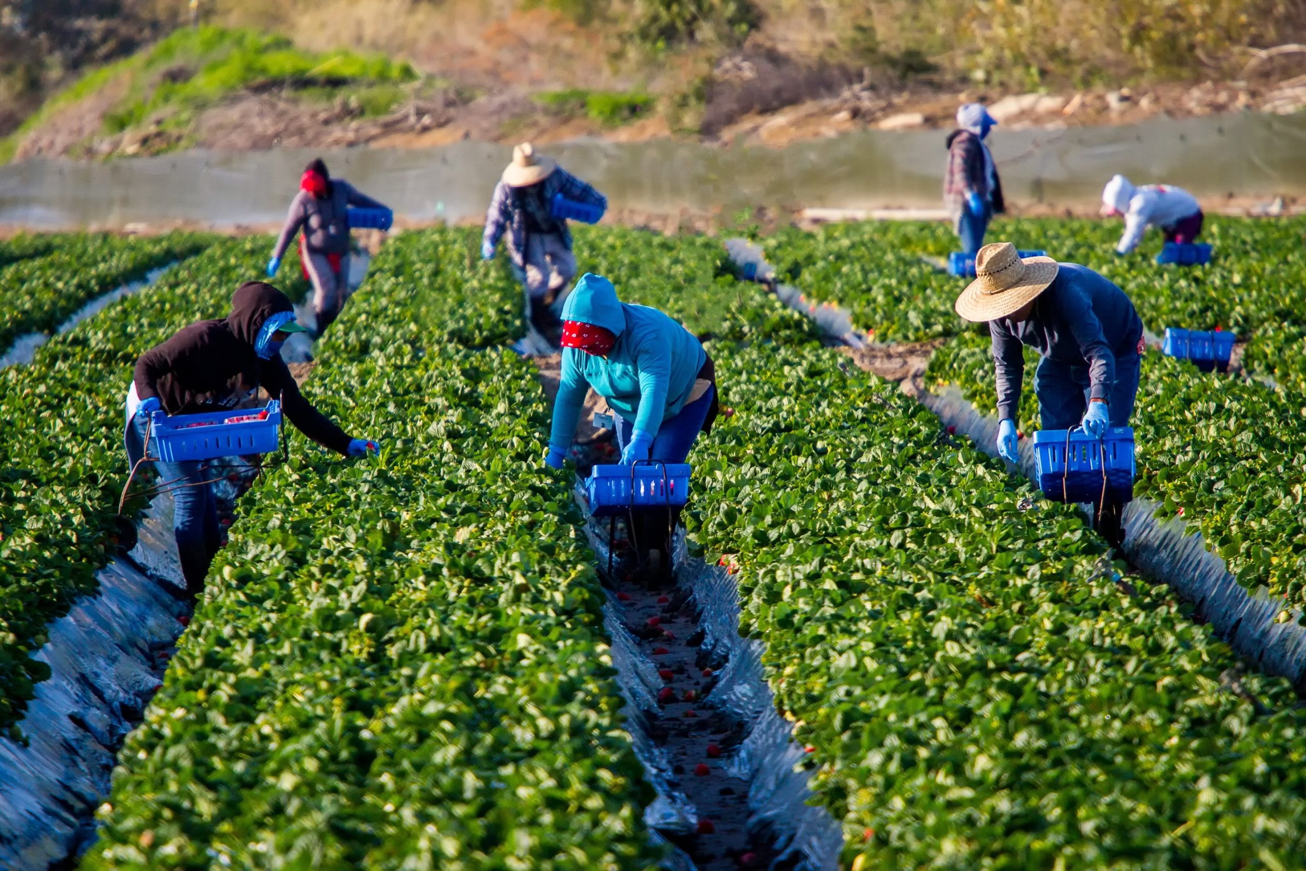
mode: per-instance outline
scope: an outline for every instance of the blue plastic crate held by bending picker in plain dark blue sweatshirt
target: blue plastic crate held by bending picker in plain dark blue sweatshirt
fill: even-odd
[[[1106,495],[1118,503],[1134,499],[1134,428],[1111,427],[1101,439],[1083,430],[1034,434],[1038,488],[1053,501],[1094,501]]]

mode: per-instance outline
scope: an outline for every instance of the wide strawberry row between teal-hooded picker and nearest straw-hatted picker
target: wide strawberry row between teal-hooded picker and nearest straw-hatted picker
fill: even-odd
[[[1306,714],[836,351],[713,347],[691,535],[862,868],[1293,867]],[[801,389],[798,389],[801,385]]]

